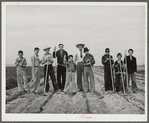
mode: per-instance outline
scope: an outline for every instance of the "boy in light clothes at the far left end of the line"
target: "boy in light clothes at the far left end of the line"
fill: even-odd
[[[17,85],[18,85],[18,91],[20,93],[29,92],[29,86],[28,86],[28,81],[26,77],[26,59],[23,57],[23,51],[19,50],[18,51],[18,58],[16,59],[15,66],[17,68]],[[23,85],[24,82],[24,85]]]

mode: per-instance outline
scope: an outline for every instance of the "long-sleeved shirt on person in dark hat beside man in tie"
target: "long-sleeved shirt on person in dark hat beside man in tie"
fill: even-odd
[[[83,64],[84,66],[90,66],[88,63],[89,61],[91,62],[91,65],[93,66],[95,64],[95,59],[94,56],[92,54],[86,54],[83,57]]]

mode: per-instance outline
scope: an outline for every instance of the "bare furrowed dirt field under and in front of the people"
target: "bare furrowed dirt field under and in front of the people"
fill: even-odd
[[[6,113],[47,113],[47,114],[144,114],[145,113],[145,78],[142,73],[136,76],[138,93],[106,94],[104,91],[104,73],[102,67],[94,67],[95,87],[99,94],[84,96],[81,92],[76,95],[64,95],[51,92],[48,96],[43,94],[43,78],[39,95],[25,93],[19,95],[17,88],[6,91]],[[99,99],[101,92],[103,99]]]

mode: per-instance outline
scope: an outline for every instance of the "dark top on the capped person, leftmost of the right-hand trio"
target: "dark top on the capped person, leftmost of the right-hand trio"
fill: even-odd
[[[110,60],[107,60],[106,62],[105,62],[105,60],[109,57],[113,58],[111,55],[109,56],[109,55],[106,55],[106,54],[104,56],[102,56],[102,64],[104,65],[104,68],[108,69],[108,70],[110,70]],[[111,60],[111,65],[113,65],[113,64],[114,64],[114,61]]]

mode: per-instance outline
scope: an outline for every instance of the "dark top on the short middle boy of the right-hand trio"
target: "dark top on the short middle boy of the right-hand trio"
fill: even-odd
[[[120,65],[120,63],[121,63],[121,65]],[[120,63],[118,63],[118,61],[116,61],[114,63],[114,69],[115,69],[116,74],[120,74],[121,72],[124,72],[124,62],[121,60]],[[120,68],[120,66],[121,66],[121,68]]]

